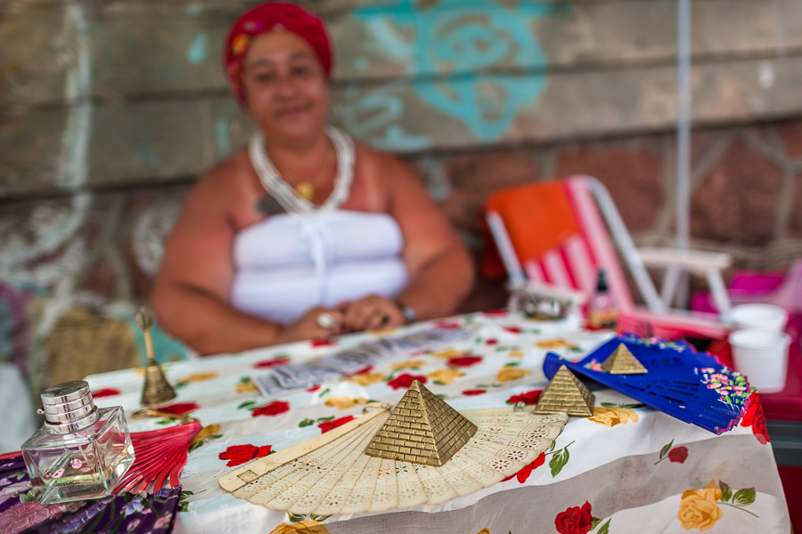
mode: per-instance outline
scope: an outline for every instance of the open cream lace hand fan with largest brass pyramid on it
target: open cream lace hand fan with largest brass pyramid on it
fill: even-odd
[[[221,477],[220,486],[236,498],[299,515],[437,505],[518,473],[568,420],[511,407],[457,412],[417,381],[392,413],[388,404],[375,406],[331,432],[243,465]]]

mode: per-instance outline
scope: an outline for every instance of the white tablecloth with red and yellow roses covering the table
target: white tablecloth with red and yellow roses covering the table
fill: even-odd
[[[267,368],[315,358],[375,336],[474,325],[470,338],[406,353],[306,391],[263,398],[253,379]],[[506,312],[419,323],[396,331],[343,336],[166,366],[178,397],[166,410],[204,425],[181,477],[176,532],[437,532],[612,534],[626,532],[783,532],[788,509],[757,393],[741,424],[716,436],[626,396],[595,391],[593,417],[571,417],[540,457],[507,481],[438,506],[383,514],[290,517],[233,498],[217,478],[253,458],[327,432],[370,400],[398,401],[417,378],[455,409],[535,404],[546,385],[546,352],[581,359],[612,334],[576,318],[530,321]],[[100,406],[139,407],[143,378],[130,369],[88,376]],[[132,431],[175,425],[128,419]]]

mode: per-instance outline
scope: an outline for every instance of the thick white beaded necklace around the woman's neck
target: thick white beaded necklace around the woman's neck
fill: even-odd
[[[250,162],[258,174],[262,186],[287,213],[306,213],[337,209],[348,198],[351,182],[354,180],[354,140],[351,136],[329,126],[326,133],[337,152],[337,176],[334,178],[334,189],[322,205],[316,206],[301,197],[281,174],[275,169],[273,162],[265,151],[265,136],[261,132],[253,134],[248,143]]]

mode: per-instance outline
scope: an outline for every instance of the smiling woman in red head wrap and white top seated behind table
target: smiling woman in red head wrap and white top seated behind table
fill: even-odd
[[[321,20],[251,9],[225,63],[258,133],[185,201],[153,289],[162,327],[213,354],[454,312],[473,270],[444,214],[397,158],[327,126]]]

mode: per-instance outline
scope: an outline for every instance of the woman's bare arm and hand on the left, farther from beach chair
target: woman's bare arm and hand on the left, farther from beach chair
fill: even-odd
[[[315,318],[323,310],[315,309],[298,323],[283,327],[237,312],[228,304],[236,233],[231,215],[236,206],[235,172],[231,165],[217,167],[201,178],[184,203],[153,287],[152,303],[160,326],[201,354],[240,352],[336,334],[316,325]]]

